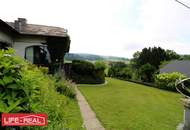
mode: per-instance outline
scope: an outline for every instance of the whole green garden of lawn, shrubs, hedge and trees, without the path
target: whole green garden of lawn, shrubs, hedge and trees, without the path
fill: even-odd
[[[165,53],[160,48],[148,50],[152,57],[156,50],[161,56]],[[70,78],[80,84],[81,92],[107,130],[174,130],[183,120],[183,105],[180,94],[172,91],[176,91],[175,81],[186,76],[178,72],[159,74],[163,59],[158,58],[155,65],[153,58],[144,63],[143,54],[128,64],[74,60],[69,64],[70,75],[63,77],[60,73],[48,74],[47,68],[16,56],[12,49],[1,50],[0,113],[48,115],[48,126],[16,127],[18,130],[83,130],[75,84],[65,79]],[[106,75],[112,78],[106,79],[107,84],[100,84],[105,81],[105,69]],[[9,128],[12,130],[1,127]]]

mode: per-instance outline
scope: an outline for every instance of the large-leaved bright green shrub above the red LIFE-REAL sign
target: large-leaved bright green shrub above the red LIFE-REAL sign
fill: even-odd
[[[28,80],[31,75],[25,75],[29,66],[12,49],[0,51],[0,59],[0,112],[32,111],[39,86]]]

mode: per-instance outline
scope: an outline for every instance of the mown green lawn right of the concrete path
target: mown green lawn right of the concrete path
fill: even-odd
[[[106,130],[175,130],[183,120],[181,96],[144,85],[106,79],[79,85]]]

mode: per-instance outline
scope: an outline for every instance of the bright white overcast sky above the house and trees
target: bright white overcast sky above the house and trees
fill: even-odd
[[[160,46],[190,54],[190,9],[175,0],[1,1],[2,20],[18,17],[68,29],[73,53],[131,58],[144,47]]]

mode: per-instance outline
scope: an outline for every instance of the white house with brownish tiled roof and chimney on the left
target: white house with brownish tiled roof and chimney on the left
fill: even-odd
[[[49,67],[52,73],[63,67],[70,42],[70,36],[64,28],[28,24],[24,18],[14,22],[0,20],[0,49],[12,47],[21,57]]]

